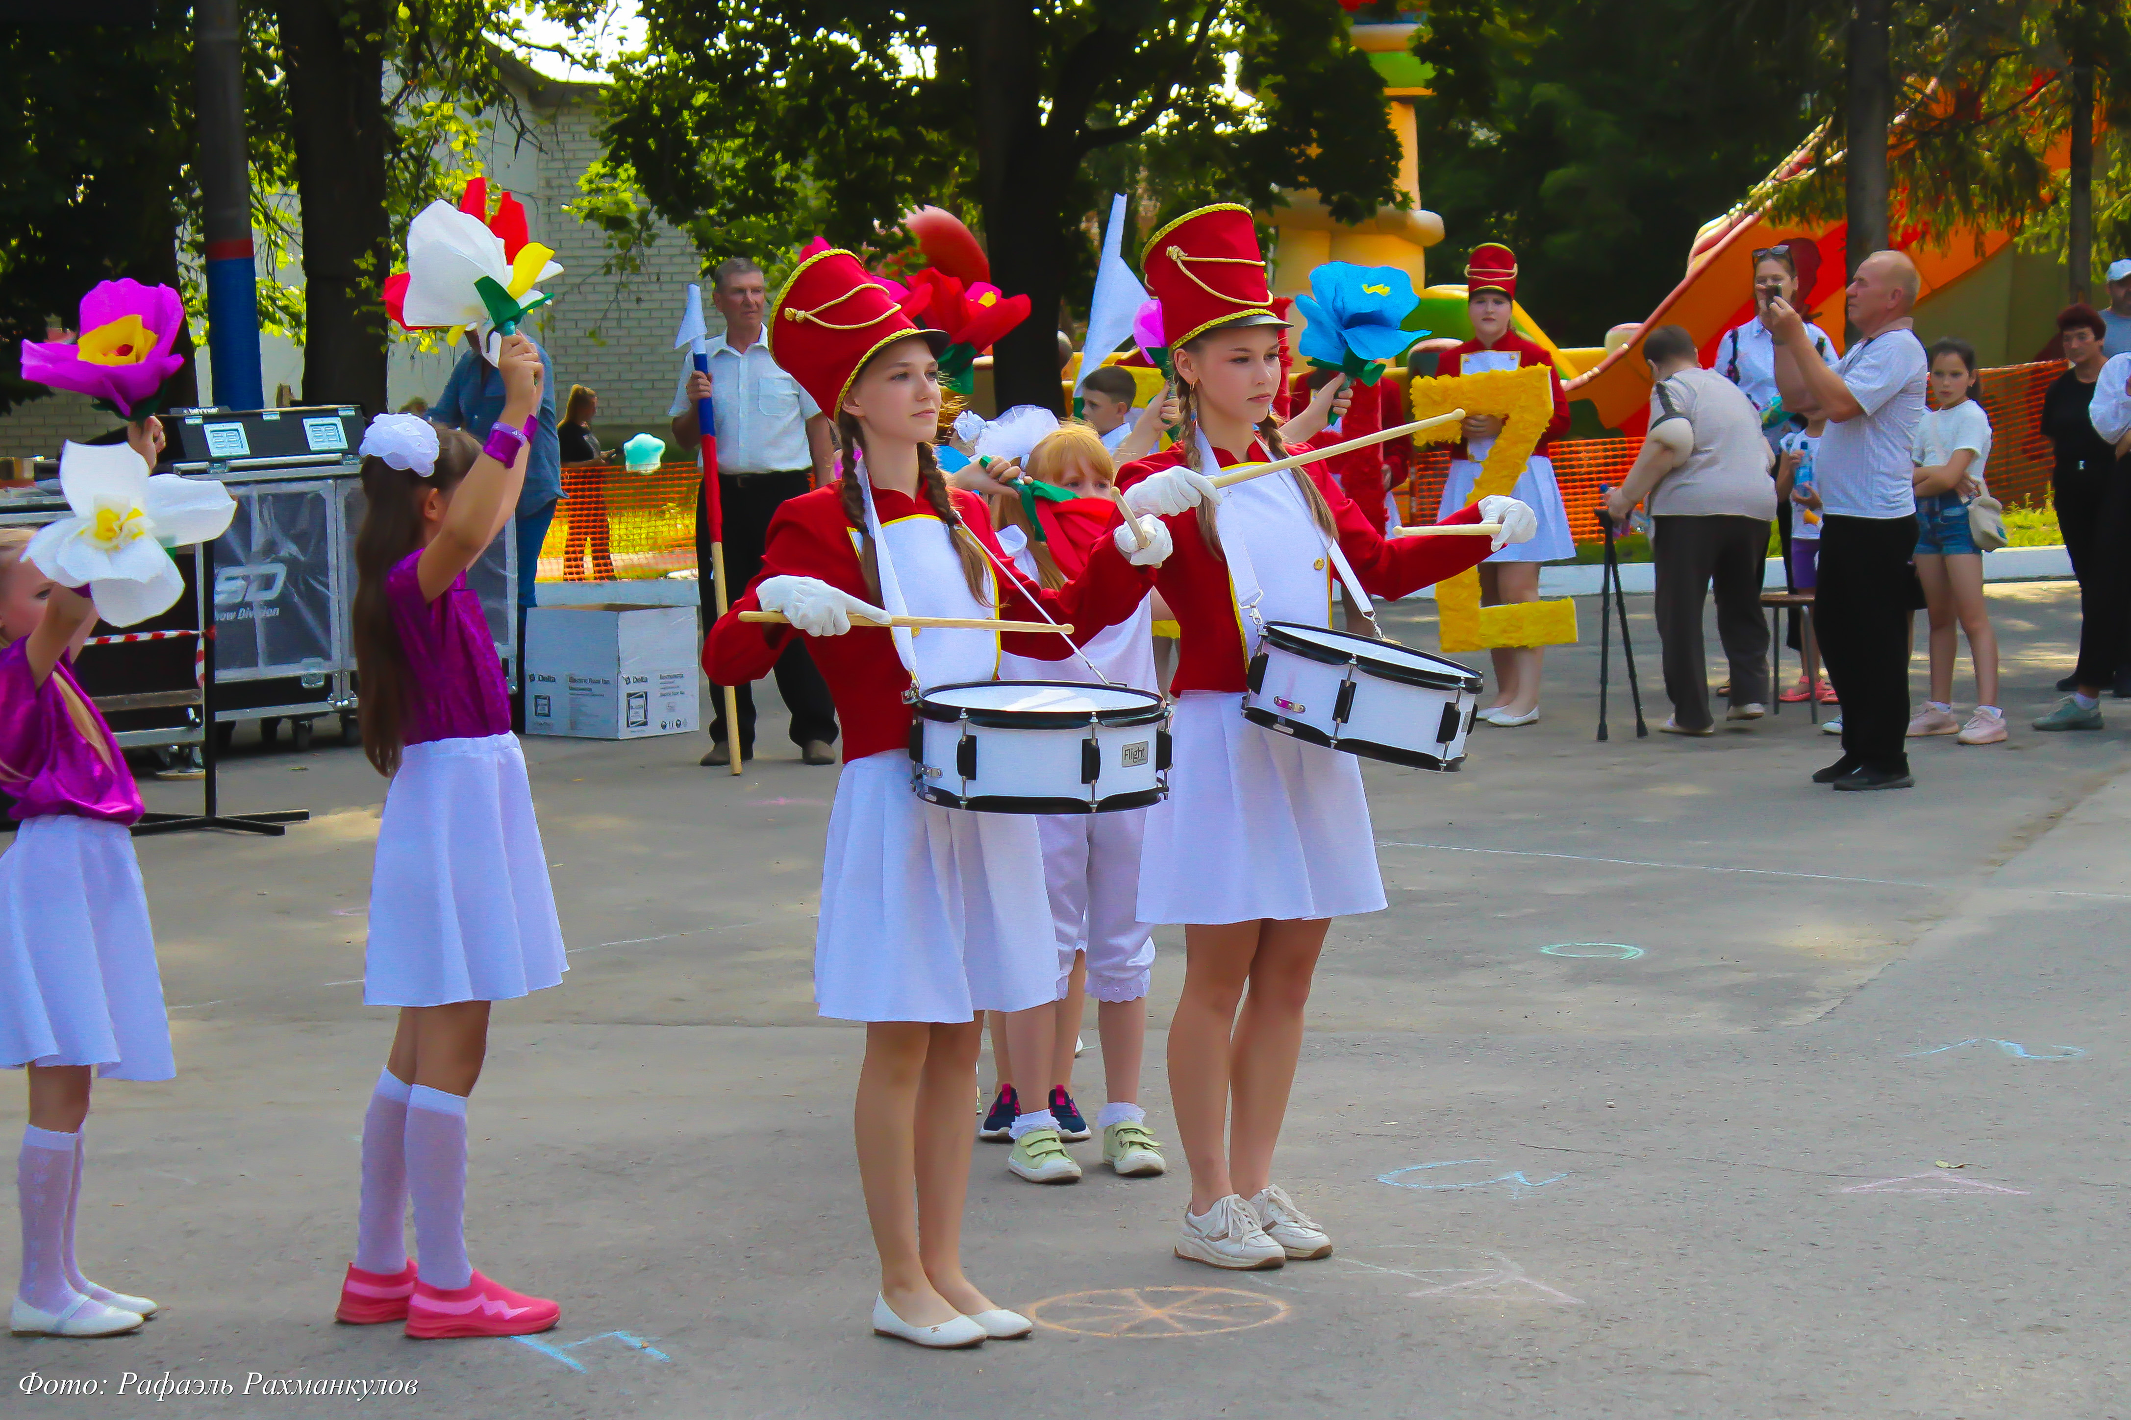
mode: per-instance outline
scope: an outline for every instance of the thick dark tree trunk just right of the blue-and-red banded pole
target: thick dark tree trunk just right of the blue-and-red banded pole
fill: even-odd
[[[307,404],[386,407],[386,213],[381,0],[279,0],[296,187],[303,200]]]

